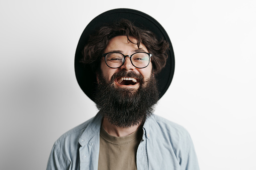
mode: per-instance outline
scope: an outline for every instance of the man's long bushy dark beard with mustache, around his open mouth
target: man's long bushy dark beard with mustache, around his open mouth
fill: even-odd
[[[114,80],[117,77],[134,77],[139,79],[137,90],[129,88],[115,88]],[[147,82],[142,75],[135,72],[121,71],[115,73],[110,82],[102,74],[96,89],[95,102],[101,114],[113,125],[128,128],[144,123],[151,116],[154,105],[158,101],[156,79],[151,74]]]

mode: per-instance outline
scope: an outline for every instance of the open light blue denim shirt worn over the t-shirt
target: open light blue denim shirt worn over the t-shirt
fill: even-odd
[[[100,112],[64,133],[53,145],[47,164],[50,169],[98,169]],[[198,170],[191,137],[182,126],[152,115],[143,125],[137,149],[137,169]]]

